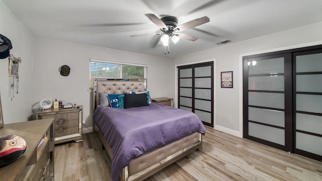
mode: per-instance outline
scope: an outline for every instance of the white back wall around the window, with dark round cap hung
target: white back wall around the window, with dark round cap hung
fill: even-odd
[[[172,97],[171,60],[166,57],[120,51],[43,37],[34,38],[34,109],[43,99],[76,102],[84,106],[83,118],[92,126],[92,94],[89,90],[90,59],[148,65],[147,84],[152,98]],[[61,76],[59,67],[70,67],[68,76]]]

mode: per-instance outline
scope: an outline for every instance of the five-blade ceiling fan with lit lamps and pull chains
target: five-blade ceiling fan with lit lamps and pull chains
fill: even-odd
[[[149,18],[157,27],[160,28],[162,31],[161,33],[146,33],[146,34],[139,34],[139,35],[131,35],[130,37],[141,37],[141,36],[148,36],[148,35],[163,35],[160,38],[160,42],[165,47],[168,46],[168,53],[169,53],[169,38],[176,44],[180,39],[189,40],[189,41],[196,41],[198,37],[178,33],[182,32],[196,26],[208,23],[210,20],[207,16],[197,18],[195,20],[186,22],[184,24],[178,25],[178,18],[174,16],[165,16],[162,18],[156,17],[154,14],[145,14],[147,18]],[[166,53],[165,53],[166,54]]]

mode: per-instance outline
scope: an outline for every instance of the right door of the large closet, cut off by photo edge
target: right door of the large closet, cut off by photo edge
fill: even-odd
[[[322,160],[322,49],[294,55],[295,153]]]

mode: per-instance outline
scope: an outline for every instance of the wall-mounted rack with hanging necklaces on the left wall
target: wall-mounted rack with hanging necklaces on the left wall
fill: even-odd
[[[19,65],[22,62],[21,58],[9,55],[9,96],[11,100],[15,99],[15,94],[18,94],[19,86]]]

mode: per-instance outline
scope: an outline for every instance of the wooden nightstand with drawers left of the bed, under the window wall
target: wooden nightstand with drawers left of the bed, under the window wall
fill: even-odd
[[[83,106],[79,108],[56,108],[36,112],[36,120],[54,118],[55,144],[67,141],[83,141]]]

